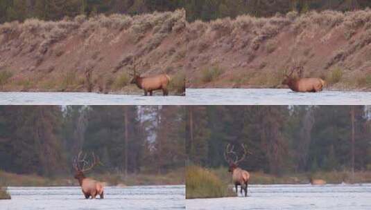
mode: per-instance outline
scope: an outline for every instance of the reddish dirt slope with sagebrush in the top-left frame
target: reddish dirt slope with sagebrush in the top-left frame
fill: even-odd
[[[93,91],[139,92],[128,84],[137,64],[142,75],[168,73],[174,93],[184,81],[185,26],[184,10],[4,23],[0,25],[0,87],[3,91],[87,91],[85,75],[90,72]]]

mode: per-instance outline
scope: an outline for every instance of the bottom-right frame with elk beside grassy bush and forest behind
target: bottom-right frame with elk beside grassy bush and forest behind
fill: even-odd
[[[370,209],[370,106],[189,106],[187,209]]]

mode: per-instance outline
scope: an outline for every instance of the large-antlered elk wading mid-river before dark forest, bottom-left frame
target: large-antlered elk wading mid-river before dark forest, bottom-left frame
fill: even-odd
[[[80,187],[83,190],[86,199],[90,197],[94,199],[96,198],[96,195],[99,195],[101,199],[103,199],[104,198],[103,183],[93,180],[91,178],[86,178],[84,175],[85,172],[93,169],[94,166],[96,166],[97,164],[101,164],[101,162],[99,161],[99,158],[96,157],[96,155],[94,155],[94,153],[92,153],[93,160],[91,163],[89,163],[88,160],[85,160],[86,158],[87,158],[86,153],[85,155],[83,155],[82,158],[81,151],[78,153],[77,158],[74,158],[74,162],[72,164],[74,166],[74,169],[76,170],[74,177],[76,180],[78,180],[78,184],[80,184]],[[81,165],[83,166],[81,167]]]

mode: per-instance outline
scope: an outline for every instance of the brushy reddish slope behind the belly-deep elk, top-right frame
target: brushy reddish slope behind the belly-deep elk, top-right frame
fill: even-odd
[[[371,89],[371,10],[288,12],[195,21],[186,34],[187,86],[282,87],[292,66],[329,89]]]

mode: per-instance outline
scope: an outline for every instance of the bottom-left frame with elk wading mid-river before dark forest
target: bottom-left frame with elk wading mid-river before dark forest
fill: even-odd
[[[184,209],[184,110],[0,106],[1,209]]]

